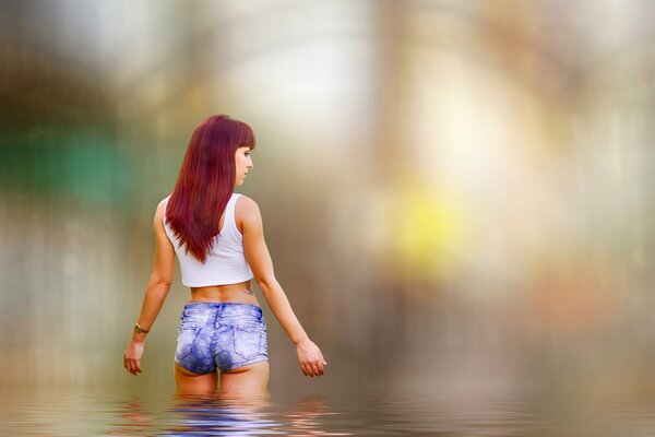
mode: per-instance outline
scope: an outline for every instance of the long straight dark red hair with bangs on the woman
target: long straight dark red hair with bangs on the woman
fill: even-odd
[[[211,116],[193,130],[178,180],[166,208],[166,223],[204,263],[218,237],[221,215],[235,192],[237,149],[254,149],[250,126],[226,115]]]

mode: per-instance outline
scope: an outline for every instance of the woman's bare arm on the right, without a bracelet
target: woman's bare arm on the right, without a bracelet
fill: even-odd
[[[275,279],[273,261],[264,241],[262,216],[258,204],[246,196],[239,202],[239,215],[243,229],[243,250],[254,280],[279,324],[287,332],[294,344],[300,369],[307,376],[323,375],[323,366],[327,363],[321,350],[311,341],[294,314],[286,294]]]

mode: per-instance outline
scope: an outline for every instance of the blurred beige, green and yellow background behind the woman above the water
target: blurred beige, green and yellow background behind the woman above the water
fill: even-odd
[[[179,267],[122,367],[152,221],[211,114],[258,146],[303,377],[271,390],[655,397],[650,1],[1,4],[0,383],[174,389]]]

